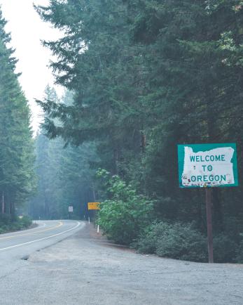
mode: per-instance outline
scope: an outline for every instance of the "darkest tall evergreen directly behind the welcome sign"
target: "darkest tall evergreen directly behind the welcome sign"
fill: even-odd
[[[130,9],[133,39],[144,45],[151,71],[144,99],[160,115],[150,129],[147,186],[161,196],[162,214],[202,223],[204,198],[177,186],[176,144],[237,142],[242,152],[242,3],[143,0]],[[229,205],[230,216],[241,213],[239,198],[242,186],[214,189],[216,228]]]

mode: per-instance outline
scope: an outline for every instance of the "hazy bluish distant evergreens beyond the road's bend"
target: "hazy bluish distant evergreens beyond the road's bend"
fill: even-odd
[[[54,89],[46,88],[46,100],[59,103]],[[62,98],[64,105],[72,105],[72,94],[67,91]],[[56,119],[55,123],[60,125]],[[76,147],[66,145],[61,138],[49,140],[45,131],[36,136],[36,174],[38,192],[32,198],[29,211],[34,218],[60,219],[87,216],[88,201],[95,200],[93,164],[99,159],[95,143]],[[68,215],[68,207],[74,214]]]

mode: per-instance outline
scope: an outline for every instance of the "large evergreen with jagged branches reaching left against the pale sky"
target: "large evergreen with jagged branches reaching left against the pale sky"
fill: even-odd
[[[52,63],[57,82],[75,91],[69,107],[41,103],[49,114],[48,134],[74,144],[101,141],[104,164],[114,174],[124,174],[122,161],[140,158],[146,118],[146,105],[138,100],[144,90],[142,58],[130,43],[126,5],[52,1],[38,11],[43,20],[65,29],[63,39],[45,45],[59,58]],[[55,117],[62,126],[53,124]]]

